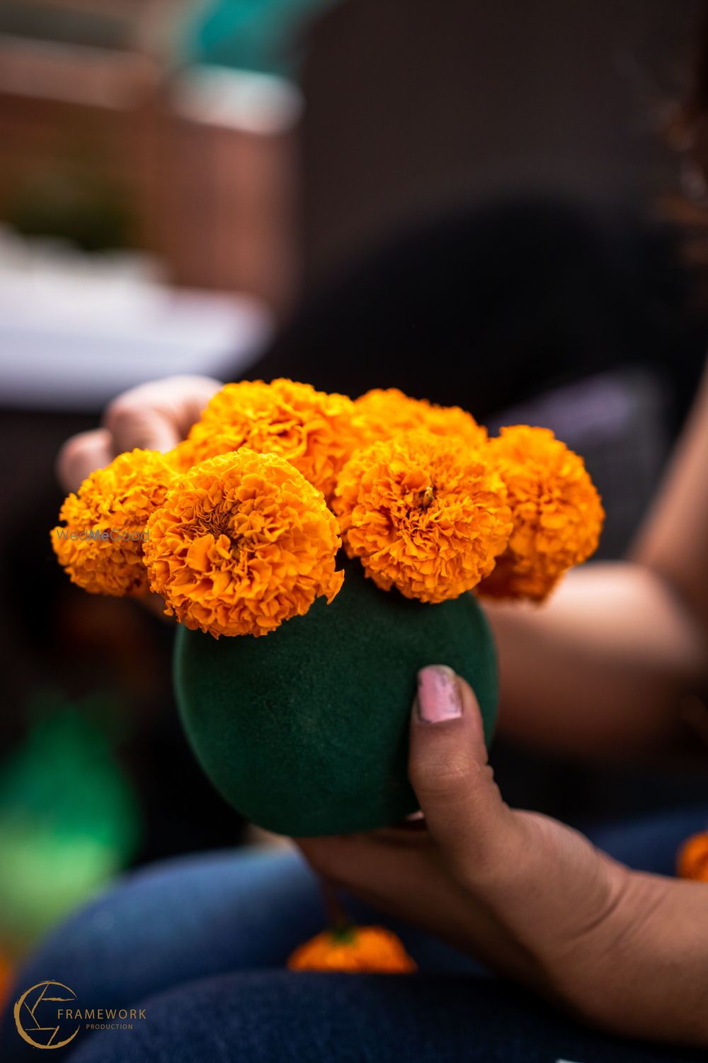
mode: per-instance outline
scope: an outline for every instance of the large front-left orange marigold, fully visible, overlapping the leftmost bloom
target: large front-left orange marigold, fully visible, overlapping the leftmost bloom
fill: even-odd
[[[240,450],[194,466],[148,523],[150,586],[168,615],[220,635],[267,635],[331,602],[341,539],[317,491],[284,458]]]

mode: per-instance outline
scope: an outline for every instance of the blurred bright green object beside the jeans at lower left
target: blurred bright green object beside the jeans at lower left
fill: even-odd
[[[140,816],[105,724],[63,704],[0,767],[0,944],[21,955],[134,855]]]

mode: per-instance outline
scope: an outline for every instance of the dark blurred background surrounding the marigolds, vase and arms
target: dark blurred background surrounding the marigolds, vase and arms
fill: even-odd
[[[182,737],[172,627],[55,563],[62,442],[142,381],[340,386],[385,351],[390,379],[341,386],[556,428],[621,556],[705,356],[675,121],[703,9],[0,0],[7,962],[122,868],[244,840]],[[494,758],[570,822],[697,793],[684,765]]]

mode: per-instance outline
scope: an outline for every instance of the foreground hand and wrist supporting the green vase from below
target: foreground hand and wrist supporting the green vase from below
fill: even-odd
[[[508,808],[474,694],[444,665],[418,677],[409,774],[425,820],[298,839],[315,871],[592,1025],[708,1047],[708,887]]]

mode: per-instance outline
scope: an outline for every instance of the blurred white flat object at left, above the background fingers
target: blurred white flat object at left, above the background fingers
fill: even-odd
[[[0,231],[0,403],[100,408],[174,373],[234,378],[273,331],[251,296],[173,289],[134,253],[85,255]]]

